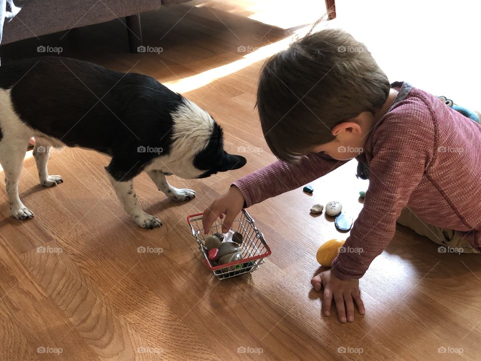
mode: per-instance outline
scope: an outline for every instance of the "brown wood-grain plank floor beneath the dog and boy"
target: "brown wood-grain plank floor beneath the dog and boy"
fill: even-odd
[[[202,180],[174,177],[174,186],[196,191],[187,203],[166,200],[140,175],[141,204],[164,223],[144,231],[116,199],[103,169],[107,157],[54,152],[49,170],[64,183],[52,189],[39,185],[35,162],[26,159],[20,193],[35,218],[14,220],[4,184],[0,191],[0,360],[479,359],[479,256],[438,253],[402,227],[360,281],[366,315],[350,324],[335,312],[321,315],[310,285],[316,250],[347,235],[309,209],[338,200],[358,214],[367,182],[355,178],[353,162],[313,182],[312,196],[296,190],[249,209],[273,251],[259,270],[219,281],[205,268],[186,216],[274,161],[254,109],[262,58],[324,11],[319,2],[297,2],[278,10],[284,22],[276,24],[269,6],[281,5],[259,3],[191,2],[144,14],[145,43],[162,47],[160,54],[127,53],[120,21],[72,30],[62,41],[57,34],[3,47],[8,62],[36,56],[38,45],[59,45],[63,56],[183,89],[222,124],[228,151],[247,150],[248,164]],[[349,7],[337,3],[342,19]]]

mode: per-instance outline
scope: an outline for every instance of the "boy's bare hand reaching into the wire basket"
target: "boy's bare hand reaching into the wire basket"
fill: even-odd
[[[239,189],[235,186],[229,188],[220,198],[217,198],[212,204],[207,207],[202,217],[202,227],[204,228],[204,234],[209,233],[210,227],[217,218],[225,219],[222,223],[222,232],[226,233],[235,217],[242,211],[244,206],[244,196],[240,193]]]

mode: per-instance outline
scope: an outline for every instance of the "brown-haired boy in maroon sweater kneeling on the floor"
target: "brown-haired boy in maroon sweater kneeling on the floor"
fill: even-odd
[[[296,189],[349,159],[369,178],[364,206],[332,268],[311,283],[341,322],[364,313],[361,278],[396,221],[445,247],[481,248],[481,127],[407,82],[389,84],[364,44],[341,30],[309,34],[262,69],[257,107],[280,159],[237,180],[204,212],[227,231],[243,207]]]

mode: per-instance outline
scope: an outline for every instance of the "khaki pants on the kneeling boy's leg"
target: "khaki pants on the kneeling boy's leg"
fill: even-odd
[[[422,222],[410,209],[404,208],[396,221],[402,226],[412,229],[417,234],[429,238],[431,241],[448,248],[456,249],[458,253],[479,253],[472,248],[469,241],[464,237],[464,232],[453,231],[440,227],[431,226]]]

